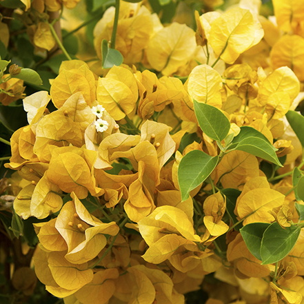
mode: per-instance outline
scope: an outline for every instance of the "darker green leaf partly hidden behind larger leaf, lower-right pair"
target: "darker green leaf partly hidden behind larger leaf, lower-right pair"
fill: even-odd
[[[250,223],[240,229],[247,248],[260,261],[262,261],[260,251],[263,234],[269,226],[269,223]]]

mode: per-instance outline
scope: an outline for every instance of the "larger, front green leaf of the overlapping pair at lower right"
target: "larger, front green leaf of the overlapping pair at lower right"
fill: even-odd
[[[262,265],[276,263],[290,253],[301,228],[296,226],[283,229],[278,223],[272,223],[264,232],[261,243]]]

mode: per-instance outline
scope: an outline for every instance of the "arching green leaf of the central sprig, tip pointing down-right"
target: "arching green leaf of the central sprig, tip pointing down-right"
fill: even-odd
[[[236,145],[236,148],[234,150],[250,153],[254,156],[261,157],[266,161],[270,161],[271,163],[283,167],[280,161],[278,161],[278,156],[276,156],[276,148],[274,148],[273,145],[267,141],[264,141],[263,139],[248,137]]]

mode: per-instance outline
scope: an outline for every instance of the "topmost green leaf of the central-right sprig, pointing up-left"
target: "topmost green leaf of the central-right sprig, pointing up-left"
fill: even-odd
[[[229,119],[221,112],[207,103],[194,100],[194,112],[199,121],[201,130],[214,141],[223,141],[230,130]]]

